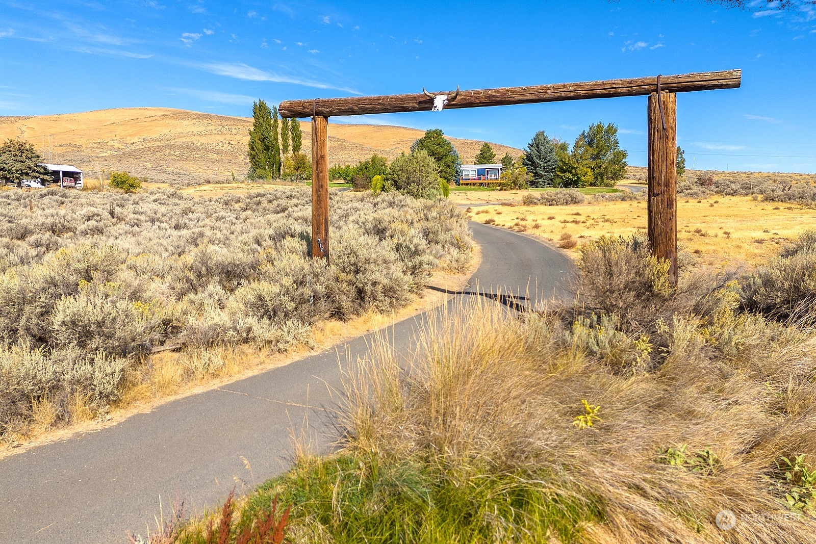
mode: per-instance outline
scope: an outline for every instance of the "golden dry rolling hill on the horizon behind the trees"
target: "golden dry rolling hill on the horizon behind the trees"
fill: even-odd
[[[171,108],[118,108],[86,113],[0,117],[0,139],[28,139],[47,162],[73,164],[86,179],[126,170],[150,181],[205,184],[242,178],[249,167],[246,144],[252,120]],[[304,152],[311,129],[301,122]],[[329,125],[331,164],[356,164],[377,153],[389,159],[409,151],[422,130],[401,126]],[[450,138],[464,162],[483,142]],[[520,149],[491,144],[498,157]],[[105,176],[107,177],[107,176]]]

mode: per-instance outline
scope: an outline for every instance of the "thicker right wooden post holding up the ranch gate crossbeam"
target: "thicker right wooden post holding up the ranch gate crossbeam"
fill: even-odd
[[[663,105],[662,111],[660,105]],[[647,223],[652,254],[671,263],[677,285],[677,95],[649,95],[649,201]]]

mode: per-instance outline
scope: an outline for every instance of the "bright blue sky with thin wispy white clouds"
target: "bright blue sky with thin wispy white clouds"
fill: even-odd
[[[731,2],[736,3],[736,2]],[[0,0],[0,115],[134,106],[251,115],[253,100],[743,69],[678,95],[688,166],[816,172],[816,5],[728,2]],[[524,147],[614,122],[645,165],[645,97],[333,118]],[[467,157],[464,157],[467,158]]]

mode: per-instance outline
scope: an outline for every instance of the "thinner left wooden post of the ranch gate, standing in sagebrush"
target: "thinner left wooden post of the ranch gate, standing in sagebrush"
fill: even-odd
[[[295,119],[295,122],[298,122]],[[329,118],[312,117],[312,257],[329,259]]]

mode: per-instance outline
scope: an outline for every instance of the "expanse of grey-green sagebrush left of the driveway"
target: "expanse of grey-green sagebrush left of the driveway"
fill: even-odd
[[[60,418],[75,396],[104,409],[162,344],[286,351],[308,343],[315,321],[399,307],[432,269],[471,258],[467,219],[449,201],[333,192],[330,206],[327,265],[309,255],[306,188],[0,192],[0,351],[17,361],[0,378],[0,422],[24,428],[43,398],[30,387]],[[20,378],[31,373],[40,378]]]

